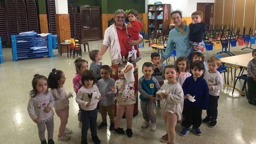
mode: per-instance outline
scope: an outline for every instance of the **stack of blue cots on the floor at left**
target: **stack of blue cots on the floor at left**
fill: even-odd
[[[13,61],[39,57],[52,57],[52,36],[11,35]]]

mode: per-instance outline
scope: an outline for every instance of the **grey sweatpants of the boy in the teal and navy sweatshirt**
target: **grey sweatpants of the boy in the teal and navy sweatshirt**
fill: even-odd
[[[156,105],[153,100],[147,102],[141,100],[141,111],[145,121],[149,122],[150,120],[151,123],[156,123],[157,117],[154,114],[154,109],[156,109]]]

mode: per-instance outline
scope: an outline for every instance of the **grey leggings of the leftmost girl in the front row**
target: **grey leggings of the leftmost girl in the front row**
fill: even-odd
[[[36,124],[38,127],[38,135],[40,141],[44,141],[45,139],[45,125],[47,128],[48,140],[53,138],[53,129],[54,129],[54,122],[53,117],[48,120],[47,122],[40,122]]]

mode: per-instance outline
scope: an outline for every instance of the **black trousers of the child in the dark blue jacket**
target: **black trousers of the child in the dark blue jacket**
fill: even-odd
[[[183,127],[189,128],[193,125],[193,128],[200,127],[202,124],[202,108],[197,106],[190,106],[184,104],[184,117],[181,125]]]

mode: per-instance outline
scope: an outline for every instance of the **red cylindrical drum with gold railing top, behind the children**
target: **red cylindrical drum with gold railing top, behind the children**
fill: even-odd
[[[127,61],[129,61],[131,64],[133,64],[134,66],[134,95],[135,95],[135,98],[136,98],[136,103],[134,104],[134,109],[133,109],[133,116],[137,115],[138,114],[138,66],[136,65],[136,61],[133,60],[133,59],[128,59],[128,58],[120,58],[120,59],[117,59],[117,60],[112,60],[112,65],[110,66],[111,70],[112,70],[112,74],[110,75],[110,77],[112,79],[114,79],[115,81],[118,78],[118,74],[117,74],[117,68],[118,68],[118,64],[120,63],[127,63]],[[115,104],[114,104],[114,113],[115,113],[115,116],[116,116],[116,97],[114,98],[115,99]],[[122,118],[125,118],[125,113],[123,115]]]

